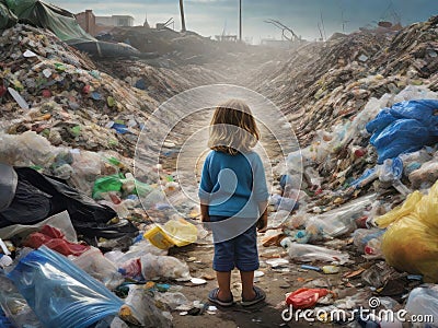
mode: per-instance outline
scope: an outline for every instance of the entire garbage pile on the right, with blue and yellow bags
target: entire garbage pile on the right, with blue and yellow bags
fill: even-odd
[[[315,318],[374,311],[354,323],[319,318],[349,327],[402,327],[384,311],[406,311],[406,319],[428,317],[418,327],[435,327],[438,313],[426,304],[436,304],[438,282],[437,24],[435,16],[396,34],[361,31],[306,45],[261,86],[302,145],[288,155],[290,169],[277,172],[262,244],[285,253],[266,263],[318,272],[279,306]]]

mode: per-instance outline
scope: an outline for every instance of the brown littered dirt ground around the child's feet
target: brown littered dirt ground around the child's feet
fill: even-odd
[[[263,235],[258,235],[261,241]],[[342,273],[324,274],[312,270],[303,270],[301,265],[292,263],[281,268],[272,268],[265,261],[269,258],[284,257],[288,258],[286,251],[281,247],[258,246],[261,268],[258,271],[264,276],[255,278],[255,284],[266,292],[266,302],[264,304],[254,305],[252,307],[242,307],[240,301],[240,276],[237,269],[232,272],[231,285],[234,295],[235,305],[232,307],[219,307],[215,314],[205,312],[201,315],[181,316],[178,311],[172,313],[173,324],[176,328],[188,327],[327,327],[323,323],[306,323],[306,321],[284,321],[281,312],[286,308],[286,293],[290,293],[303,286],[303,283],[311,281],[320,281],[327,285],[337,285],[341,282]],[[192,277],[211,279],[215,277],[215,271],[211,268],[214,254],[212,244],[189,245],[183,248],[173,249],[172,255],[186,260],[191,268]],[[348,268],[342,268],[347,271]],[[207,280],[206,279],[206,280]],[[200,301],[208,303],[208,292],[217,286],[215,279],[207,280],[207,284],[193,285],[192,283],[181,284],[182,293],[188,301]]]

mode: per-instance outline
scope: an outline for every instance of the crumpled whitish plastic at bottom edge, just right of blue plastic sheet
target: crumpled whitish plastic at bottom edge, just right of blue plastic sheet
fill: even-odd
[[[141,285],[129,285],[129,293],[122,306],[119,317],[125,321],[141,327],[172,327],[171,321],[154,305]]]

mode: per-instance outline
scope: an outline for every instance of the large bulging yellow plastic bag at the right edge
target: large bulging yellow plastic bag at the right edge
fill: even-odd
[[[426,282],[438,282],[438,181],[428,195],[413,192],[402,207],[376,222],[379,226],[392,222],[382,239],[389,265],[420,273]]]

